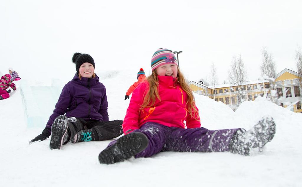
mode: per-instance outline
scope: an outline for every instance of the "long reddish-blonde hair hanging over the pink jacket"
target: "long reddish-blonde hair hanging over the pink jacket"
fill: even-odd
[[[195,107],[195,100],[192,93],[191,88],[185,81],[184,75],[179,71],[179,68],[177,67],[177,82],[180,84],[180,87],[187,93],[187,102],[186,102],[186,109],[188,113],[193,117],[195,120],[199,121],[199,114]],[[156,70],[152,71],[152,74],[147,77],[147,81],[149,82],[149,90],[146,93],[143,104],[140,107],[140,110],[143,110],[144,108],[152,107],[155,104],[156,98],[158,100],[161,100],[158,93],[158,77],[156,74]]]

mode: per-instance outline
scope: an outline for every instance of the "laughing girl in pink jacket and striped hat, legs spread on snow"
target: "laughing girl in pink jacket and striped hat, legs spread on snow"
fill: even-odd
[[[132,156],[150,157],[163,151],[231,152],[249,155],[262,150],[275,135],[271,117],[252,129],[208,130],[201,127],[193,93],[179,71],[171,50],[158,49],[152,75],[133,91],[123,122],[125,136],[111,142],[98,156],[112,164]]]

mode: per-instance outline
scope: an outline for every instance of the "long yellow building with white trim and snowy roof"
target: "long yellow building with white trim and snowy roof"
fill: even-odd
[[[302,75],[284,69],[274,77],[278,98],[281,101],[282,107],[290,107],[289,109],[296,113],[302,113],[301,110],[301,80]],[[208,96],[216,101],[221,101],[230,108],[235,109],[238,103],[238,86],[232,84],[221,84],[215,86],[207,86],[205,84],[190,81],[189,86],[193,92]],[[268,80],[252,80],[246,81],[240,87],[247,93],[245,98],[241,101],[253,101],[258,96],[263,96],[270,92],[270,85]]]

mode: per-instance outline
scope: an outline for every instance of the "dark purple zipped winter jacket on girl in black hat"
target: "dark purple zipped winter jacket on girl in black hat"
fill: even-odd
[[[81,77],[78,74],[69,81],[62,90],[56,109],[49,117],[46,128],[50,129],[53,121],[59,115],[83,118],[84,120],[109,121],[108,102],[105,86],[99,82],[99,77]]]

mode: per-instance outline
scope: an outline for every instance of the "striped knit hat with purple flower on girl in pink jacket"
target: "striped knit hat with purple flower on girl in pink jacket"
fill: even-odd
[[[152,70],[156,69],[163,64],[176,64],[177,61],[173,52],[169,49],[159,48],[152,56],[151,68]]]

